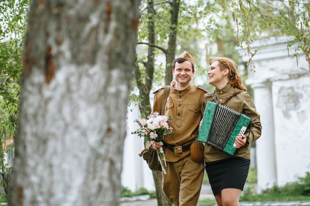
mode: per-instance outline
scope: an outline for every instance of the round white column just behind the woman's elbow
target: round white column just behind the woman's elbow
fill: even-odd
[[[260,114],[262,132],[256,141],[258,193],[276,185],[276,157],[274,144],[274,125],[271,83],[256,83],[254,89],[255,106]]]

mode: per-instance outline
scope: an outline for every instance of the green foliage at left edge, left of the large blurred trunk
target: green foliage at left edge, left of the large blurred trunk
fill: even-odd
[[[0,175],[5,193],[9,186],[13,140],[17,132],[21,49],[29,4],[30,0],[0,1]]]

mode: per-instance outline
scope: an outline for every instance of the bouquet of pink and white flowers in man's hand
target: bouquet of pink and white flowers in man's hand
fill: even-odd
[[[163,145],[163,138],[169,136],[172,133],[172,127],[168,125],[171,121],[171,117],[159,115],[155,112],[153,115],[149,115],[147,119],[135,120],[139,124],[140,128],[136,131],[131,132],[132,134],[138,134],[140,137],[144,137],[146,141],[155,141]],[[166,159],[164,157],[163,149],[157,148],[157,157],[160,162],[162,171],[166,173],[161,160],[166,165]]]

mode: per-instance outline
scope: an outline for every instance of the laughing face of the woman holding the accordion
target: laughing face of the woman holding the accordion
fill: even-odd
[[[228,68],[220,68],[219,61],[214,61],[210,65],[210,70],[207,72],[209,77],[209,84],[215,86],[216,88],[223,88],[229,82]]]

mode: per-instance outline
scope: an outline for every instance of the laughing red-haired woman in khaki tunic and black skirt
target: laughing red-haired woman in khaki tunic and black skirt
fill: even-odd
[[[242,85],[236,63],[226,57],[213,57],[208,63],[210,70],[207,75],[209,83],[215,86],[213,96],[216,99],[206,93],[202,110],[205,110],[208,101],[217,100],[219,104],[252,119],[251,129],[247,130],[242,138],[236,137],[235,146],[238,150],[233,156],[205,144],[205,168],[217,205],[239,206],[239,198],[250,167],[250,143],[257,140],[261,134],[260,118],[252,97]]]

